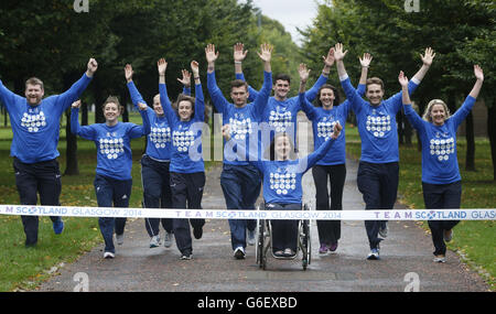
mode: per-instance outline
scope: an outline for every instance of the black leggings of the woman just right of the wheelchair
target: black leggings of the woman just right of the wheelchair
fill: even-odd
[[[315,183],[317,210],[342,210],[343,190],[346,180],[346,165],[314,165],[312,169]],[[327,177],[331,182],[331,193],[327,190]],[[330,206],[331,194],[331,206]],[[321,243],[337,243],[341,238],[341,220],[317,220],[319,241]]]

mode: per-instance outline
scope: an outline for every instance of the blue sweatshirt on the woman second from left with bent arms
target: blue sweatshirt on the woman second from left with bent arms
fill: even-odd
[[[130,180],[132,167],[131,139],[150,133],[150,121],[147,109],[140,110],[143,126],[130,122],[118,122],[109,127],[106,123],[79,126],[78,108],[71,111],[71,131],[83,139],[94,141],[97,148],[96,173],[116,180]]]

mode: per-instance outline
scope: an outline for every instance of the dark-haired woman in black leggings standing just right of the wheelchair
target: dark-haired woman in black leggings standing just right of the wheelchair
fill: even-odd
[[[332,50],[332,63],[334,63],[334,48]],[[370,65],[370,54],[364,54],[359,59],[362,65],[362,76],[357,93],[365,94],[365,83],[367,80],[368,67]],[[341,210],[343,209],[343,190],[346,180],[346,144],[344,126],[348,117],[351,105],[345,100],[339,105],[339,94],[337,89],[324,84],[316,97],[316,107],[304,99],[301,104],[302,110],[312,121],[314,150],[317,150],[328,137],[332,136],[334,124],[339,122],[343,126],[343,137],[334,143],[332,152],[320,160],[312,167],[313,181],[315,183],[315,208],[319,210]],[[334,105],[336,104],[336,105]],[[331,183],[331,193],[327,190],[327,182]],[[330,206],[331,195],[331,206]],[[317,220],[319,241],[321,247],[319,253],[326,255],[337,249],[341,238],[339,220]]]

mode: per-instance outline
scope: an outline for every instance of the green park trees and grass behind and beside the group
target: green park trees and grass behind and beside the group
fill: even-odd
[[[407,10],[402,0],[316,1],[316,17],[300,30],[296,44],[284,26],[263,15],[252,1],[236,0],[88,0],[13,1],[0,4],[0,79],[12,91],[24,95],[24,82],[37,76],[45,95],[66,90],[86,69],[89,57],[98,61],[98,71],[83,94],[82,124],[103,122],[101,104],[117,95],[128,104],[123,121],[140,122],[131,110],[123,66],[132,64],[133,80],[151,104],[157,94],[157,59],[169,62],[166,83],[174,98],[181,91],[176,82],[190,62],[200,63],[206,84],[204,48],[214,43],[220,55],[216,64],[217,83],[228,90],[234,78],[233,45],[249,51],[242,64],[250,85],[260,87],[262,65],[256,55],[261,43],[274,46],[273,73],[289,73],[298,80],[296,67],[306,63],[313,82],[323,66],[322,55],[336,42],[349,51],[345,63],[356,84],[358,56],[374,56],[369,76],[385,80],[386,97],[399,90],[399,71],[411,77],[421,66],[420,53],[427,46],[436,56],[424,80],[412,96],[423,112],[430,99],[441,98],[454,112],[471,90],[473,65],[485,74],[478,101],[459,132],[459,163],[462,172],[463,208],[494,208],[496,204],[496,118],[495,57],[496,4],[490,0],[419,0],[418,11]],[[311,84],[313,82],[310,82]],[[338,86],[333,68],[330,83]],[[211,117],[208,93],[204,90]],[[226,94],[227,95],[227,94]],[[95,108],[95,111],[88,108]],[[12,159],[9,156],[12,132],[2,106],[0,115],[0,203],[18,204]],[[76,139],[69,128],[71,112],[61,120],[58,150],[63,172],[61,203],[67,206],[96,206],[93,187],[96,149],[93,142]],[[212,119],[211,119],[212,120]],[[420,150],[418,139],[402,113],[397,117],[400,144],[400,202],[423,208]],[[359,137],[349,117],[346,141],[351,156],[359,159]],[[132,142],[133,190],[131,207],[141,206],[139,160],[144,139]],[[218,162],[217,162],[218,163]],[[215,162],[208,162],[208,166]],[[427,224],[419,228],[428,231]],[[449,248],[456,251],[495,289],[494,221],[463,221]],[[0,291],[32,290],[53,274],[61,263],[77,259],[95,245],[100,234],[95,218],[66,218],[64,237],[53,235],[50,219],[42,218],[40,242],[24,248],[22,224],[17,216],[0,217]]]

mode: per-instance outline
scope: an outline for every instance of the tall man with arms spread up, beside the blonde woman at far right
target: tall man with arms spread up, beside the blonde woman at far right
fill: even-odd
[[[395,206],[399,181],[399,150],[396,115],[402,107],[401,91],[384,100],[384,84],[380,78],[367,79],[364,100],[352,86],[344,67],[343,45],[336,44],[334,57],[337,74],[345,90],[346,98],[355,111],[358,132],[362,139],[362,156],[358,166],[357,185],[364,196],[365,209],[391,209]],[[417,86],[429,71],[434,53],[425,50],[422,67],[409,83],[409,93]],[[387,237],[387,221],[366,220],[365,228],[370,247],[367,259],[379,259],[379,242]],[[378,236],[382,238],[379,238]]]

